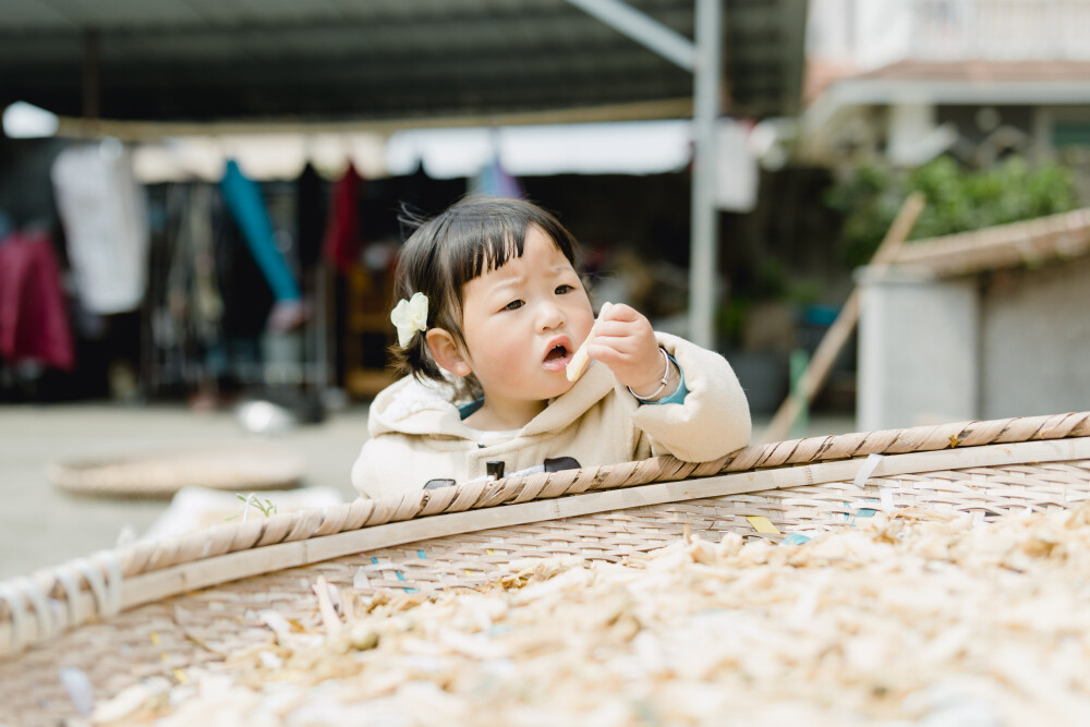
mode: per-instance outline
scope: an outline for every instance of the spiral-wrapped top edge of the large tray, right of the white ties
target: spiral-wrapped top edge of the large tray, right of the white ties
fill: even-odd
[[[809,437],[746,447],[711,462],[682,462],[674,457],[663,456],[597,468],[417,490],[398,498],[356,499],[320,510],[277,513],[267,519],[225,523],[159,541],[140,542],[116,550],[114,555],[121,564],[122,575],[128,578],[237,550],[334,535],[402,520],[592,490],[811,464],[868,455],[903,455],[950,447],[1083,436],[1090,436],[1090,412]],[[40,581],[40,573],[36,575]]]

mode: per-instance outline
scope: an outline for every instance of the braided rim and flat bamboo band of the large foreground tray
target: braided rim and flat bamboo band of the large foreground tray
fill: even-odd
[[[576,504],[586,496],[607,502],[606,509],[641,505],[643,502],[639,500],[645,497],[641,493],[647,488],[627,489],[633,485],[656,483],[653,488],[663,490],[657,495],[662,498],[661,501],[674,501],[694,496],[689,492],[695,492],[694,486],[679,481],[724,475],[707,481],[707,484],[715,483],[716,487],[723,490],[718,494],[755,492],[789,486],[789,482],[808,484],[814,481],[819,468],[837,470],[848,468],[853,471],[860,465],[859,458],[869,455],[905,455],[918,458],[943,449],[979,448],[976,450],[980,452],[979,456],[972,449],[966,451],[965,460],[996,457],[1017,459],[1021,456],[1010,449],[1004,450],[1002,447],[988,447],[988,445],[1010,444],[1016,446],[1014,448],[1025,448],[1031,447],[1033,443],[1040,446],[1047,440],[1069,437],[1086,438],[1076,439],[1073,446],[1090,443],[1090,413],[812,437],[747,447],[719,460],[704,463],[686,463],[673,457],[658,457],[601,468],[470,483],[439,490],[411,493],[387,500],[361,499],[320,510],[275,514],[267,520],[217,525],[150,543],[137,543],[123,549],[100,552],[88,558],[39,571],[31,578],[0,582],[0,655],[17,653],[28,645],[21,638],[17,640],[12,638],[12,634],[22,631],[20,621],[26,621],[31,617],[31,614],[25,613],[24,605],[32,606],[39,616],[49,610],[47,598],[53,601],[58,607],[66,608],[68,618],[55,625],[60,630],[66,630],[89,619],[110,616],[141,603],[147,603],[149,599],[291,565],[317,562],[350,550],[367,550],[387,537],[385,531],[389,528],[410,526],[412,531],[409,534],[410,540],[420,540],[426,535],[446,534],[445,530],[469,532],[472,529],[487,526],[477,524],[480,516],[485,514],[484,512],[468,512],[470,510],[487,509],[498,505],[512,506],[517,510],[529,508],[532,513],[528,517],[519,516],[522,517],[519,522],[536,522],[565,517],[568,510],[572,511],[571,514],[577,514],[576,511],[583,506],[569,508],[565,504]],[[1078,449],[1083,451],[1086,447]],[[946,455],[955,456],[950,451]],[[1065,453],[1061,450],[1054,452],[1040,450],[1034,457],[1070,459],[1070,455],[1071,452]],[[814,467],[809,467],[811,464]],[[767,475],[773,477],[770,478]],[[738,481],[739,476],[746,482]],[[739,484],[724,487],[724,480]],[[750,482],[750,480],[761,482]],[[695,487],[708,489],[703,485]],[[580,494],[584,495],[584,498],[562,501],[556,499],[565,495]],[[548,501],[554,501],[555,505],[547,506]],[[601,509],[602,504],[597,504],[586,511]],[[427,516],[433,514],[448,517],[425,520]],[[502,513],[497,509],[494,514]],[[502,514],[502,517],[509,516]],[[467,518],[477,519],[473,520],[472,528],[468,528],[469,523],[463,522]],[[346,538],[351,541],[348,550],[343,549]],[[299,553],[288,558],[299,559],[300,564],[284,562],[284,548],[296,550],[301,548]],[[341,548],[342,552],[335,552],[337,548]],[[230,560],[232,565],[225,568],[225,560]],[[89,593],[81,583],[81,579],[89,586]],[[136,582],[141,582],[141,585],[136,586]],[[124,595],[121,592],[122,583],[125,583],[126,589]],[[138,593],[130,592],[130,584]],[[45,618],[47,621],[55,620],[48,616]],[[29,619],[29,622],[33,627],[34,620]],[[50,626],[47,632],[39,633],[34,641],[48,639],[56,632],[57,628]]]

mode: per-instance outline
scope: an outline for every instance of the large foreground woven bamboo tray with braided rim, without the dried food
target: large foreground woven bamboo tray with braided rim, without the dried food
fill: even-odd
[[[267,638],[257,614],[303,619],[313,584],[435,592],[516,559],[640,558],[685,532],[782,540],[922,507],[981,521],[1090,498],[1090,413],[969,422],[749,447],[715,462],[654,458],[356,500],[218,525],[0,583],[0,724],[96,699]]]

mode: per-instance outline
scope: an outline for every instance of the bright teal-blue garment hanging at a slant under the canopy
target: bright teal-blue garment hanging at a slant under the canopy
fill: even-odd
[[[261,187],[239,169],[234,159],[228,159],[223,179],[219,182],[223,201],[242,229],[251,254],[262,269],[266,282],[277,301],[298,301],[302,298],[283,255],[277,250]]]

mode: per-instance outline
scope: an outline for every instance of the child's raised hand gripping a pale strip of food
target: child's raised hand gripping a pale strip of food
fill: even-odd
[[[586,348],[621,385],[635,393],[647,393],[663,379],[663,354],[651,322],[635,308],[616,303],[602,314],[594,341]]]

